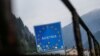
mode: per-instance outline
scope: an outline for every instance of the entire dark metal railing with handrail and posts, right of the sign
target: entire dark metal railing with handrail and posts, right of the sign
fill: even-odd
[[[73,29],[74,29],[74,36],[78,51],[78,56],[84,56],[83,54],[83,46],[82,46],[82,40],[81,40],[81,33],[80,33],[80,25],[85,29],[88,36],[88,43],[89,43],[89,50],[90,50],[90,56],[100,56],[100,44],[95,39],[92,32],[89,30],[89,28],[86,26],[84,21],[81,19],[81,17],[76,12],[75,8],[72,6],[72,4],[69,2],[69,0],[62,0],[62,2],[67,6],[69,11],[72,14],[72,20],[73,20]]]

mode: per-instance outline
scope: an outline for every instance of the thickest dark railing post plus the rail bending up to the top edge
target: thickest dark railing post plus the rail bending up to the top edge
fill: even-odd
[[[75,35],[75,41],[76,41],[76,46],[78,50],[78,56],[83,56],[83,46],[82,46],[82,40],[81,40],[81,34],[80,34],[80,27],[79,27],[79,17],[72,6],[72,4],[68,0],[62,0],[64,4],[68,7],[68,9],[72,13],[72,20],[73,20],[73,29],[74,29],[74,35]]]

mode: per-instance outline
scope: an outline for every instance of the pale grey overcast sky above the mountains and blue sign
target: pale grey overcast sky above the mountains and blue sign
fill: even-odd
[[[12,0],[13,14],[20,17],[34,34],[36,25],[61,22],[61,27],[70,24],[71,14],[61,0]],[[70,0],[80,16],[99,9],[100,0]]]

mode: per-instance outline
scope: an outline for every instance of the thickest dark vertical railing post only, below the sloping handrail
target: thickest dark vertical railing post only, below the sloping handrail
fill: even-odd
[[[80,34],[80,27],[79,27],[79,21],[76,14],[73,16],[73,28],[74,28],[74,35],[78,50],[78,56],[83,56],[83,46],[82,46],[82,40],[81,40],[81,34]]]

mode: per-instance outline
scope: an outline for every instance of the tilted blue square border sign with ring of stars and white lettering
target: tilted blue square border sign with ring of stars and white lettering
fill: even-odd
[[[60,22],[34,26],[38,52],[64,49]]]

